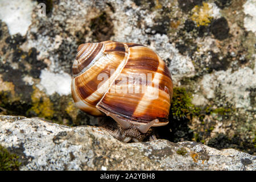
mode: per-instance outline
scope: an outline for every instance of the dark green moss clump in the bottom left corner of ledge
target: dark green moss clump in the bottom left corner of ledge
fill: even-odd
[[[14,171],[19,170],[20,162],[19,156],[10,154],[6,148],[0,146],[0,171]]]

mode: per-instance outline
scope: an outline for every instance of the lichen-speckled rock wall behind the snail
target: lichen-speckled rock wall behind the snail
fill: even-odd
[[[77,47],[109,39],[141,43],[166,61],[174,86],[187,89],[201,110],[182,121],[171,118],[168,127],[175,137],[168,137],[167,129],[166,139],[256,154],[255,0],[10,0],[0,5],[0,114],[96,125],[96,118],[73,105],[70,94]]]

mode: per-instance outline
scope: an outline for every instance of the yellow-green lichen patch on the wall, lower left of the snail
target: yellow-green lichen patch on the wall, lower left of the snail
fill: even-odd
[[[34,92],[31,95],[32,107],[29,111],[34,111],[38,117],[52,118],[54,114],[52,102],[36,86],[33,86],[33,89]]]

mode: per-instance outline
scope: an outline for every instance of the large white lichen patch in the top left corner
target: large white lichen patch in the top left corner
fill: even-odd
[[[7,24],[11,35],[26,35],[35,3],[30,0],[0,1],[0,19]]]

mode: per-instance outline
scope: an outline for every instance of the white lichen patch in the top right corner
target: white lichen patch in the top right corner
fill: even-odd
[[[247,31],[256,33],[256,0],[249,0],[243,5],[244,26]]]

